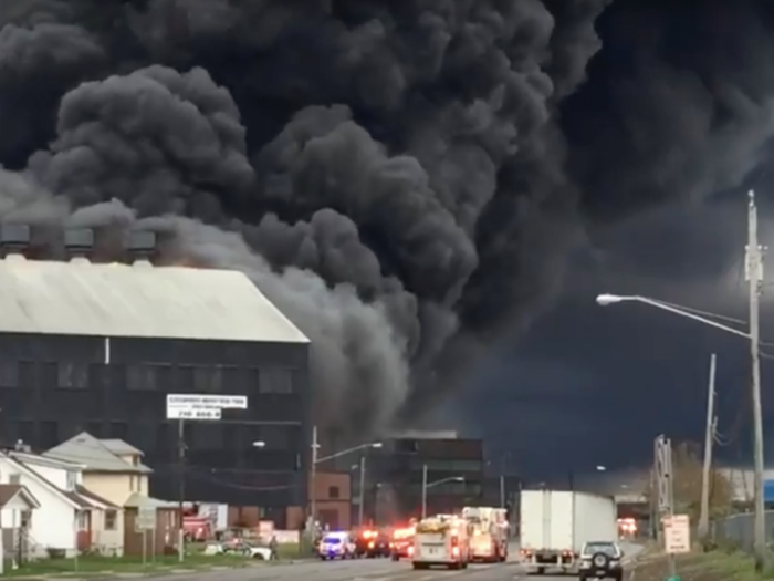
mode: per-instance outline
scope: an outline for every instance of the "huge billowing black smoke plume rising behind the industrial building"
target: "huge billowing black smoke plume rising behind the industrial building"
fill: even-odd
[[[671,29],[603,48],[632,4],[608,3],[4,0],[0,220],[52,248],[140,225],[164,260],[241,269],[313,340],[321,422],[420,416],[587,224],[732,186],[772,135],[762,65],[695,49],[686,74]],[[736,54],[771,54],[754,4],[718,9],[752,27]]]

